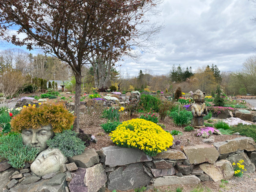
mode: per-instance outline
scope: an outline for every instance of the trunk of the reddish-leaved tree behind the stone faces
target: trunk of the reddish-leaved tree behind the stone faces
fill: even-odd
[[[81,79],[82,79],[82,72],[80,71],[79,74],[76,74],[76,94],[75,94],[75,109],[74,109],[74,116],[76,117],[73,130],[75,132],[79,132],[79,113],[80,113],[80,95],[81,95]]]

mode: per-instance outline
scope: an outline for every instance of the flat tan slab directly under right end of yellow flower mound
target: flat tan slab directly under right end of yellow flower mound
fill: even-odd
[[[156,156],[152,157],[153,159],[187,159],[186,155],[182,151],[174,150],[174,149],[167,149],[161,153],[158,153]]]

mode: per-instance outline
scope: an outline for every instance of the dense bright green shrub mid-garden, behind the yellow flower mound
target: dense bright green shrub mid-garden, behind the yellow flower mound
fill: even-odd
[[[152,95],[142,94],[140,97],[139,106],[148,112],[150,110],[154,110],[155,112],[158,112],[160,102],[161,102],[160,99],[158,99],[157,97],[154,97]]]

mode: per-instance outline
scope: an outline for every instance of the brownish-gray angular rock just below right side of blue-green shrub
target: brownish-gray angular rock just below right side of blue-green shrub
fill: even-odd
[[[86,149],[81,155],[69,157],[70,163],[76,163],[78,167],[89,168],[96,163],[99,163],[99,156],[94,149]]]

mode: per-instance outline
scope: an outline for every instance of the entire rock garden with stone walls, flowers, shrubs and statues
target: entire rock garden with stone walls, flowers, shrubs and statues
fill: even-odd
[[[239,191],[247,177],[255,191],[255,108],[199,91],[92,88],[79,133],[70,92],[5,101],[0,191]]]

